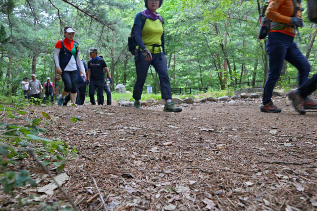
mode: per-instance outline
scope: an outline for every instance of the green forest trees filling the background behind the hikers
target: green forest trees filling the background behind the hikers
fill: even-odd
[[[165,22],[171,86],[262,86],[268,71],[266,40],[258,39],[263,4],[263,0],[164,0],[158,12]],[[66,26],[76,29],[85,62],[90,47],[104,56],[112,89],[116,84],[133,89],[134,56],[127,38],[135,15],[145,9],[143,0],[0,0],[0,8],[0,94],[21,95],[21,81],[32,73],[42,84],[46,77],[54,79],[53,48],[63,39]],[[317,25],[305,11],[303,18],[302,41],[295,40],[314,74]],[[145,86],[159,92],[154,68],[148,74]],[[285,61],[281,78],[296,76],[296,68]]]

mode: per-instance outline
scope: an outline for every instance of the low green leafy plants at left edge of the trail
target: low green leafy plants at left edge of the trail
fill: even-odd
[[[18,118],[12,114],[17,112],[25,114],[26,111],[18,110],[12,107],[5,107],[0,105],[0,111],[7,111],[7,117]],[[55,121],[54,117],[50,117],[47,113],[43,112],[43,116],[47,119],[51,119],[51,124]],[[40,132],[44,133],[47,130],[38,128],[41,124],[41,119],[29,120],[24,118],[27,124],[24,126],[18,126],[17,124],[0,123],[0,167],[4,169],[0,174],[0,182],[4,185],[4,191],[6,193],[12,192],[15,188],[25,185],[27,182],[32,185],[36,183],[30,178],[28,172],[24,169],[21,172],[7,171],[8,164],[18,164],[15,160],[29,158],[29,155],[23,151],[23,148],[31,148],[39,157],[39,160],[43,160],[44,166],[53,164],[57,167],[56,171],[62,171],[65,167],[66,158],[71,153],[73,158],[76,158],[76,147],[69,147],[65,141],[53,141],[44,137],[37,136]],[[74,121],[76,120],[76,121]],[[82,121],[78,117],[72,118],[72,122]],[[20,148],[14,148],[14,147]],[[45,160],[44,160],[45,159]]]

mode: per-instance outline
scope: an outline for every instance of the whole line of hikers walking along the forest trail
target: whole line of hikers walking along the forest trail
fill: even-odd
[[[140,99],[143,86],[149,67],[152,65],[159,74],[161,98],[165,100],[163,111],[181,112],[182,108],[176,107],[174,102],[172,102],[164,48],[164,20],[157,12],[163,0],[144,0],[144,2],[146,9],[137,13],[134,20],[132,45],[129,40],[129,50],[135,56],[137,76],[133,89],[133,98],[135,100],[133,107],[141,108]],[[295,5],[295,2],[297,5]],[[297,30],[297,27],[303,26],[302,11],[300,0],[271,0],[268,4],[265,16],[272,21],[266,43],[269,71],[264,85],[261,112],[281,112],[281,109],[272,103],[271,98],[274,86],[280,77],[284,60],[298,69],[300,87],[288,93],[296,111],[305,114],[305,109],[317,109],[317,102],[308,98],[317,89],[317,75],[308,81],[311,69],[310,64],[294,42],[295,29]],[[98,104],[103,105],[103,91],[105,90],[107,105],[111,105],[111,92],[107,85],[107,81],[111,82],[111,75],[106,62],[102,56],[97,54],[97,48],[92,47],[88,51],[91,60],[88,62],[87,70],[85,63],[80,59],[79,44],[73,40],[75,34],[76,31],[72,27],[66,27],[64,29],[65,39],[58,41],[55,45],[54,61],[56,72],[64,82],[64,89],[58,96],[58,105],[66,105],[68,101],[82,105],[86,86],[88,85],[90,85],[90,102],[93,105],[96,104],[94,99],[96,89],[98,90]],[[107,75],[106,79],[105,74]],[[50,83],[49,78],[44,86],[46,93],[48,93],[47,95],[52,96],[50,91],[53,84]],[[33,87],[36,87],[34,91],[32,91]],[[28,89],[29,91],[31,90],[31,96],[37,96],[41,92],[41,84],[35,80],[35,75],[32,75],[32,81],[29,82]],[[23,90],[25,89],[23,88]]]

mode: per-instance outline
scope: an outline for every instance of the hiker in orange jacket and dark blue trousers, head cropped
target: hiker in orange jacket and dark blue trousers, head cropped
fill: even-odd
[[[296,2],[296,1],[295,1]],[[264,85],[261,112],[279,113],[282,110],[273,105],[273,89],[280,77],[284,60],[298,69],[299,86],[305,84],[310,73],[310,64],[294,42],[295,29],[303,27],[301,1],[294,5],[293,0],[271,0],[265,16],[272,20],[266,43],[269,71]],[[308,97],[303,101],[307,109],[317,109],[317,103]]]

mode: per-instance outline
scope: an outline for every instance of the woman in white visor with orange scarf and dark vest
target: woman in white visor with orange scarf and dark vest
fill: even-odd
[[[80,75],[86,77],[86,73],[79,54],[79,44],[74,41],[76,31],[72,27],[65,27],[63,41],[58,41],[55,45],[54,61],[56,73],[61,76],[65,88],[58,96],[57,104],[62,105],[64,97],[70,92],[71,102],[74,104],[77,97],[77,66],[80,69]],[[58,76],[57,76],[58,77]]]

